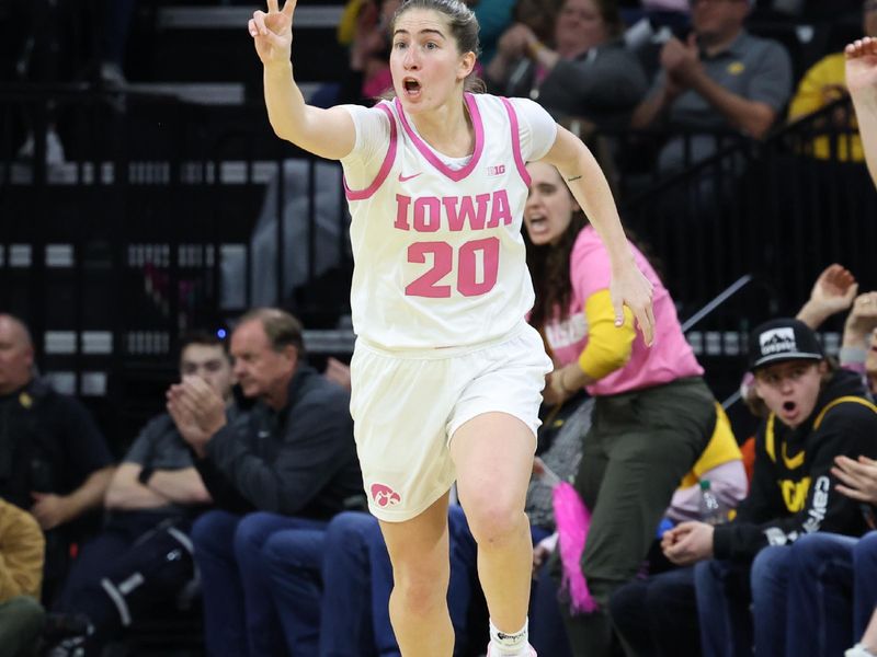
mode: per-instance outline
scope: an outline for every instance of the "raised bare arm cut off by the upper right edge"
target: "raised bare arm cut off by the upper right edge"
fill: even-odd
[[[873,1],[870,2],[873,5]],[[870,10],[873,11],[873,9]],[[846,88],[856,110],[865,161],[877,185],[877,38],[865,36],[846,46]]]

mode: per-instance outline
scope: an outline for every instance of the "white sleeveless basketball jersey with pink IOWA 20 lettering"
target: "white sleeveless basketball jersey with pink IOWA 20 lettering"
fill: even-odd
[[[498,96],[465,99],[475,149],[459,170],[417,135],[398,99],[372,110],[389,118],[389,148],[371,185],[346,188],[351,308],[356,334],[383,348],[488,342],[533,304],[521,234],[529,177],[516,111]]]

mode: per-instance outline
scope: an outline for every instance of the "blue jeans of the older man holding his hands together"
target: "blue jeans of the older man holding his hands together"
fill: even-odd
[[[263,549],[278,531],[324,527],[318,520],[263,511],[209,511],[195,521],[192,542],[202,577],[208,655],[286,655]]]

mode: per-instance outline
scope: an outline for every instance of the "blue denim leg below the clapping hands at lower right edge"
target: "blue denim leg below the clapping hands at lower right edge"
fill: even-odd
[[[857,543],[852,537],[813,533],[791,546],[789,655],[843,655],[853,645],[853,552]],[[872,572],[870,577],[875,576],[877,572]],[[874,600],[867,609],[868,618],[873,609]]]

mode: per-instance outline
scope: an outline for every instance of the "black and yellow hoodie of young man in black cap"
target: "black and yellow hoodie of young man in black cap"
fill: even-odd
[[[839,402],[844,396],[858,402]],[[877,412],[861,377],[846,370],[834,373],[797,429],[773,416],[761,424],[749,495],[734,520],[716,528],[715,556],[750,561],[767,544],[784,545],[806,533],[867,531],[859,504],[834,489],[831,468],[840,454],[877,458]]]

